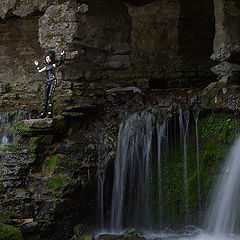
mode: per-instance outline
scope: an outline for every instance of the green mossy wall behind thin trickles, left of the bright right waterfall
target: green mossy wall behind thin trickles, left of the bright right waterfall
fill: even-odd
[[[184,196],[184,151],[183,142],[177,138],[171,142],[168,153],[162,153],[162,219],[166,226],[177,227],[184,223],[185,196]],[[187,181],[189,198],[189,217],[192,223],[199,221],[199,203],[201,211],[207,207],[207,200],[221,170],[224,158],[230,150],[237,133],[240,131],[240,120],[231,115],[212,113],[200,118],[199,133],[199,160],[201,199],[198,197],[198,170],[196,156],[195,124],[189,126],[187,141]],[[169,143],[170,144],[170,143]],[[154,167],[156,168],[156,167]],[[153,173],[153,192],[158,192],[157,173]],[[159,196],[155,194],[153,201],[156,209],[159,207]],[[158,216],[156,216],[156,220]],[[171,226],[174,223],[174,226]]]

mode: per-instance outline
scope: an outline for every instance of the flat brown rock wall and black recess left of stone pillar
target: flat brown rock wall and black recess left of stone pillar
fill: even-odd
[[[193,86],[210,80],[214,36],[211,11],[213,6],[205,0],[195,4],[163,0],[130,6],[133,67],[138,72],[154,72],[150,79],[158,79],[155,88]]]

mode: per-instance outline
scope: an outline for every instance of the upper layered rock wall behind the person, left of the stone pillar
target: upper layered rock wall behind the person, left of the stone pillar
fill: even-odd
[[[61,50],[66,51],[57,73],[58,113],[75,98],[92,101],[114,87],[195,87],[213,79],[209,56],[214,21],[209,1],[194,5],[190,0],[8,0],[0,4],[4,19],[0,83],[9,84],[0,96],[1,108],[39,110],[44,75],[35,72],[33,60],[50,48],[56,50],[57,59]],[[194,17],[199,9],[204,9],[201,19],[207,29]]]

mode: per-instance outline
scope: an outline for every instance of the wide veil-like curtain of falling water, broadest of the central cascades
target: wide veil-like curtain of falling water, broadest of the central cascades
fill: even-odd
[[[160,210],[161,145],[166,132],[166,121],[161,121],[161,118],[156,113],[145,111],[133,114],[120,125],[112,192],[111,231],[120,232],[124,225],[149,231],[154,220],[159,218],[159,211],[156,212],[153,207],[153,179],[158,179]],[[158,121],[161,125],[157,124]],[[154,138],[157,139],[157,145]],[[155,145],[157,176],[153,173]]]

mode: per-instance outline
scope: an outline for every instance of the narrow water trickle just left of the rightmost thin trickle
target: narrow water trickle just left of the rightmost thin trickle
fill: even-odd
[[[183,141],[184,152],[184,196],[185,196],[185,223],[188,222],[189,215],[189,197],[188,197],[188,172],[187,172],[187,137],[188,137],[188,125],[189,125],[189,111],[179,109],[179,127],[180,127],[180,139]]]

